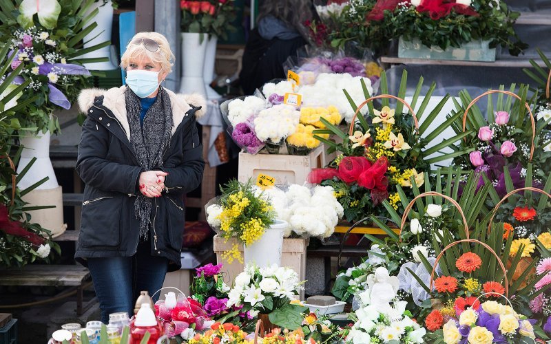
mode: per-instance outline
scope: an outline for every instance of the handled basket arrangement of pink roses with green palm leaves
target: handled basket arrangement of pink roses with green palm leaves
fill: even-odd
[[[470,130],[471,134],[461,140],[460,148],[468,149],[468,155],[458,155],[454,163],[475,171],[484,171],[488,180],[494,184],[500,197],[507,193],[505,178],[508,173],[512,186],[524,186],[528,163],[532,163],[533,186],[543,186],[543,180],[548,175],[548,159],[550,152],[544,152],[542,145],[548,139],[543,135],[543,127],[535,125],[532,120],[532,111],[528,110],[532,100],[527,99],[528,86],[521,85],[514,94],[515,85],[510,90],[485,92],[488,95],[488,106],[485,119],[483,113],[475,104],[481,96],[472,100],[466,90],[459,92],[461,104],[455,103],[454,115],[461,114],[461,118],[452,126],[456,133]],[[497,104],[493,105],[492,94],[498,93]],[[503,94],[508,96],[505,101]],[[514,102],[512,102],[514,98]],[[463,122],[461,122],[463,121]],[[506,168],[508,172],[506,173]],[[486,181],[481,175],[479,186]]]

